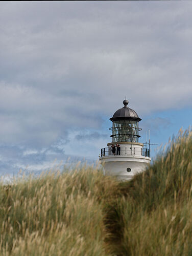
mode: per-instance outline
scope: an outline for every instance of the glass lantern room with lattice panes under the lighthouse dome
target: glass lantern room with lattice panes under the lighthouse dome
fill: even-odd
[[[138,142],[139,129],[138,121],[120,120],[113,121],[112,142]]]

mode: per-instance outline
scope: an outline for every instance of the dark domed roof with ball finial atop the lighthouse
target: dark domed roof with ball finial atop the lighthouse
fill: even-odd
[[[128,103],[129,101],[125,99],[123,101],[124,107],[122,109],[117,110],[113,117],[110,118],[111,121],[117,121],[117,120],[135,120],[135,121],[140,121],[141,119],[138,117],[137,113],[128,108]]]

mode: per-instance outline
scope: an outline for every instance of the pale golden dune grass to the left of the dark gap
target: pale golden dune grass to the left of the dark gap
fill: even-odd
[[[1,255],[107,255],[102,203],[117,181],[99,169],[0,186]]]

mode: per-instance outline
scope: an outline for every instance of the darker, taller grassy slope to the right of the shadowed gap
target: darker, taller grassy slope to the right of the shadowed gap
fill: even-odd
[[[119,255],[192,255],[190,130],[180,130],[146,172],[121,187],[124,196],[113,205],[116,221],[121,223],[121,239],[112,233],[112,251]],[[110,223],[111,217],[107,218]]]

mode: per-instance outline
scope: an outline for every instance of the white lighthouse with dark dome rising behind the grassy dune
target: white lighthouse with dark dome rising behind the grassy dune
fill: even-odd
[[[143,172],[151,162],[149,149],[138,142],[141,130],[138,123],[141,119],[128,108],[128,103],[128,100],[124,100],[124,107],[110,118],[113,123],[109,129],[112,131],[112,142],[101,149],[99,156],[105,175],[117,176],[121,180],[130,180],[136,173]],[[120,150],[117,150],[118,145]]]

